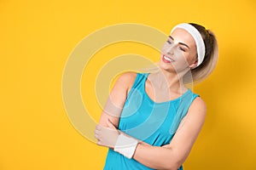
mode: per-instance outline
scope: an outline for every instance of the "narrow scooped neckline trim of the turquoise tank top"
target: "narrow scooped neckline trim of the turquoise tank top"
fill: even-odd
[[[149,72],[144,73],[145,76],[144,76],[144,81],[143,81],[143,93],[145,94],[146,99],[148,99],[148,101],[149,101],[150,103],[154,104],[154,105],[161,105],[161,104],[167,104],[167,103],[175,102],[175,101],[177,101],[177,100],[182,99],[184,96],[186,96],[187,94],[189,94],[189,92],[191,92],[191,90],[188,88],[188,90],[187,90],[184,94],[182,94],[181,96],[177,97],[176,99],[170,99],[170,100],[167,100],[167,101],[164,101],[164,102],[155,102],[153,99],[151,99],[151,98],[148,96],[148,94],[147,94],[147,92],[146,92],[146,81],[147,81],[147,79],[148,79],[148,75],[149,75],[149,74],[150,74]]]

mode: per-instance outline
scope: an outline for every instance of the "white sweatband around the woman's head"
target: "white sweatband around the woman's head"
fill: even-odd
[[[197,31],[197,29],[195,28],[195,26],[192,26],[190,24],[187,23],[183,23],[183,24],[179,24],[177,26],[174,26],[172,28],[172,31],[174,31],[176,28],[182,28],[185,31],[188,31],[189,34],[194,38],[195,40],[195,45],[196,45],[196,50],[197,50],[197,66],[201,64],[201,62],[203,61],[204,57],[205,57],[205,53],[206,53],[206,48],[205,48],[205,43],[201,37],[201,34],[199,31]],[[171,33],[172,33],[171,31]]]

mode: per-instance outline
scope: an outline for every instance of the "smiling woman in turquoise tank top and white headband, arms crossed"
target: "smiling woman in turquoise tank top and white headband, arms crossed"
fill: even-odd
[[[104,169],[183,169],[207,113],[185,82],[208,77],[217,59],[212,31],[183,23],[163,45],[159,71],[122,74],[95,131],[109,148]]]

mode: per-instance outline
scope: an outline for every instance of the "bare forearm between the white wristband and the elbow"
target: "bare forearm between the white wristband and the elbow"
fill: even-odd
[[[152,146],[144,143],[137,144],[133,159],[155,169],[177,170],[180,166],[175,151],[172,148]]]

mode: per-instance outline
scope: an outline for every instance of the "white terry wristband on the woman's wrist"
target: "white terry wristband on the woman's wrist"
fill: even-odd
[[[136,150],[137,143],[137,139],[133,139],[120,133],[113,150],[131,159]]]

